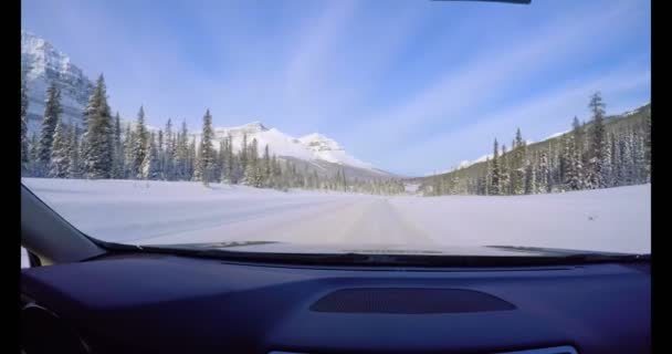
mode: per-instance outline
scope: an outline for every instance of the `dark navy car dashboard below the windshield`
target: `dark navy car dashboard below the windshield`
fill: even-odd
[[[21,306],[28,354],[35,342],[59,353],[645,353],[650,291],[649,262],[319,267],[129,252],[24,269]]]

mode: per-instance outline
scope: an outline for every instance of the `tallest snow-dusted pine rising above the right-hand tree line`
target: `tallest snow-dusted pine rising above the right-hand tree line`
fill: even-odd
[[[605,131],[605,103],[599,92],[596,92],[590,96],[590,103],[588,104],[592,114],[592,126],[590,131],[590,149],[588,150],[588,176],[587,184],[588,188],[603,188],[603,171],[602,163],[605,158],[605,143],[606,143],[606,131]]]

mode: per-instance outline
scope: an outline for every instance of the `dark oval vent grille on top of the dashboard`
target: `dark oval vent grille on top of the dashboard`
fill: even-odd
[[[459,313],[514,310],[490,294],[464,289],[359,288],[335,291],[311,305],[316,312]]]

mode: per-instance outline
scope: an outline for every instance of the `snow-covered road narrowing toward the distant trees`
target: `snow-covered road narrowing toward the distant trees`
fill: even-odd
[[[286,241],[294,243],[428,244],[432,239],[382,197],[357,196],[339,200],[297,204],[246,212],[231,219],[230,211],[216,227],[138,238],[132,243],[217,241]]]

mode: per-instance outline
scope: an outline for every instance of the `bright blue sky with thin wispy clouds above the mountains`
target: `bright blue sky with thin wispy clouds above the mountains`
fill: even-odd
[[[261,121],[318,132],[376,167],[444,170],[650,102],[645,0],[22,0],[22,28],[149,124]]]

